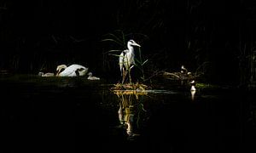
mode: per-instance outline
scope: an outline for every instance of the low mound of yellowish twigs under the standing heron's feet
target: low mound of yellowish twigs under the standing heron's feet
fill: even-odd
[[[150,89],[147,85],[143,83],[116,83],[111,88],[112,90],[147,90]]]

